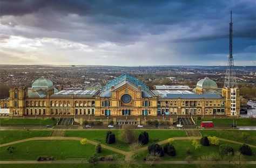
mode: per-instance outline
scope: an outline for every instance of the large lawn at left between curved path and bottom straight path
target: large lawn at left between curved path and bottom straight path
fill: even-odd
[[[87,159],[95,153],[95,145],[82,145],[79,141],[30,141],[14,144],[16,147],[13,154],[14,160],[36,160],[38,156],[53,156],[58,160],[63,159]],[[6,147],[0,148],[0,159],[11,160],[11,154]],[[98,156],[113,155],[115,152],[102,149]],[[122,155],[117,154],[119,158]]]

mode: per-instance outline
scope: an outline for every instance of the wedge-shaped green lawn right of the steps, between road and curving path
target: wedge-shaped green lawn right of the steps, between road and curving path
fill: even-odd
[[[237,142],[246,143],[246,140],[242,137],[242,132],[245,132],[250,135],[247,143],[256,145],[255,130],[200,130],[200,132],[203,136],[216,136]]]

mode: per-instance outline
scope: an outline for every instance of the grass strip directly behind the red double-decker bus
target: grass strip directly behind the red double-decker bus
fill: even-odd
[[[256,118],[201,118],[201,120],[198,122],[198,125],[202,121],[212,121],[214,122],[214,125],[231,125],[237,123],[237,126],[247,126],[252,125],[256,126]]]

